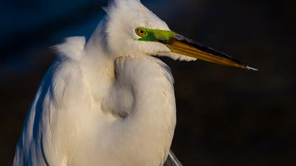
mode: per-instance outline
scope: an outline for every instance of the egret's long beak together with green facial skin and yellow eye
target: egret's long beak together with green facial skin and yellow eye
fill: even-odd
[[[168,49],[171,49],[172,53],[178,53],[183,56],[190,56],[220,65],[257,71],[257,69],[245,65],[240,60],[204,46],[197,41],[187,39],[170,30],[153,30],[145,27],[137,27],[135,32],[141,37],[139,39],[140,41],[158,41],[166,45]]]

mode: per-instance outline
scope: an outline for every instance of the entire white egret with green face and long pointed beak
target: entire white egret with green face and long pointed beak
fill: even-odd
[[[13,165],[180,165],[173,77],[154,56],[249,68],[171,31],[140,0],[109,3],[89,41],[70,37],[37,91]]]

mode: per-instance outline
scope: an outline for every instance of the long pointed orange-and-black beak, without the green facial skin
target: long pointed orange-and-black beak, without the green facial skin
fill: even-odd
[[[211,49],[197,41],[192,41],[187,39],[180,34],[175,34],[168,40],[159,41],[165,44],[173,53],[178,53],[183,56],[190,56],[192,58],[197,58],[200,60],[205,60],[211,63],[218,63],[221,65],[228,65],[236,68],[245,68],[247,70],[256,70],[255,68],[250,68],[244,63],[240,62],[231,56],[221,53],[214,49]]]

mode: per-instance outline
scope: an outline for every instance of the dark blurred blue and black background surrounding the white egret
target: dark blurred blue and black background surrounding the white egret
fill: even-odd
[[[144,1],[171,30],[259,72],[164,60],[175,77],[173,151],[184,165],[296,165],[296,1]],[[0,165],[11,165],[25,115],[56,57],[49,46],[90,37],[99,0],[0,1]]]

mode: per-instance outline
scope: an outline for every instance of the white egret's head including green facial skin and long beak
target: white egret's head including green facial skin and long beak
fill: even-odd
[[[249,68],[239,60],[187,39],[149,11],[140,0],[113,0],[104,8],[106,43],[116,56],[168,56],[180,60],[206,60],[237,68]]]

